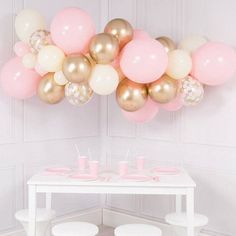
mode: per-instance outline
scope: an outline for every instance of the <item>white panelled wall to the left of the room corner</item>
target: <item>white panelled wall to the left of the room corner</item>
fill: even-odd
[[[86,1],[2,1],[0,8],[0,64],[12,55],[17,40],[14,17],[23,8],[42,12],[48,23],[55,13],[66,6],[87,10],[100,27],[100,2]],[[0,232],[19,225],[14,213],[27,207],[28,178],[39,169],[53,164],[76,164],[77,143],[81,152],[90,147],[94,157],[100,154],[100,99],[84,107],[71,106],[66,101],[47,105],[37,97],[25,102],[15,101],[0,92]],[[59,215],[99,205],[98,196],[58,195],[53,208]],[[39,199],[42,205],[42,198]]]

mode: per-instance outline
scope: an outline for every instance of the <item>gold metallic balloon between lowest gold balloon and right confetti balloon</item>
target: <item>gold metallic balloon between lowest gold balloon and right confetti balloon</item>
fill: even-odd
[[[168,103],[173,100],[178,92],[178,81],[163,75],[160,79],[148,85],[151,99],[158,103]]]

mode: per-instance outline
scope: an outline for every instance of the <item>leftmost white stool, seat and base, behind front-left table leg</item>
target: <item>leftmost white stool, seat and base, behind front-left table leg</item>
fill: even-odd
[[[56,217],[56,212],[48,209],[36,210],[36,236],[50,236],[51,221]],[[23,209],[15,213],[15,218],[21,222],[25,232],[28,232],[29,211]]]

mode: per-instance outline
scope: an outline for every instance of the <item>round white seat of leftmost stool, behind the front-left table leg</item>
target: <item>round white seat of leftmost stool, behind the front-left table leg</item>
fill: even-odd
[[[56,217],[54,210],[37,208],[36,210],[36,222],[50,221]],[[15,213],[15,218],[22,222],[29,222],[29,210],[22,209]]]

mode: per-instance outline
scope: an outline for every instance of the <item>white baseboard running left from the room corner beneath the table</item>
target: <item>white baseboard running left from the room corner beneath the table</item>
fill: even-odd
[[[62,222],[68,222],[68,221],[85,221],[85,222],[90,222],[95,225],[101,225],[102,224],[102,209],[101,208],[88,209],[85,211],[57,217],[52,222],[52,225],[59,224]],[[24,230],[15,230],[15,231],[0,234],[0,236],[26,236],[26,235],[25,235]]]

